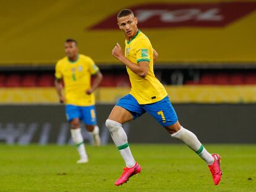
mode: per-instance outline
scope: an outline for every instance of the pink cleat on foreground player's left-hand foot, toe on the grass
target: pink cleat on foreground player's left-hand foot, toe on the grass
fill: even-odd
[[[114,183],[114,185],[118,186],[118,185],[122,185],[123,183],[126,183],[129,180],[129,178],[132,177],[132,175],[136,175],[137,173],[140,173],[141,170],[142,168],[137,163],[135,163],[134,167],[132,168],[125,167],[121,177],[119,177],[116,180],[116,183]]]

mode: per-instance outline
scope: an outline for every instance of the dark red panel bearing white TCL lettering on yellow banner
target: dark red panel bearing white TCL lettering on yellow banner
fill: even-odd
[[[226,27],[252,13],[256,2],[142,4],[129,8],[138,17],[139,28]],[[118,29],[116,15],[117,12],[90,29]]]

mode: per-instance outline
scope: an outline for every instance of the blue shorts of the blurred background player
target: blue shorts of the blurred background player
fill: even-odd
[[[67,121],[79,118],[85,123],[85,125],[96,125],[96,110],[95,106],[74,106],[74,105],[66,105],[66,117]]]

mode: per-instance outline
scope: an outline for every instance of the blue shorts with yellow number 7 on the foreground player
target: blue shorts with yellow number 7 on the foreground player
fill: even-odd
[[[116,106],[127,109],[134,119],[140,117],[140,115],[148,112],[152,115],[163,127],[168,127],[177,122],[177,114],[169,100],[169,96],[166,96],[161,101],[152,104],[140,105],[137,100],[131,95],[127,94],[123,98],[119,99]]]

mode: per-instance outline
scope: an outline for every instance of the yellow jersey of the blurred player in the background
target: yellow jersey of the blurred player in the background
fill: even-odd
[[[98,72],[98,67],[90,57],[79,54],[77,61],[69,61],[67,57],[56,64],[55,77],[63,78],[66,104],[75,106],[92,106],[95,104],[94,94],[85,93],[91,88],[91,75]]]

